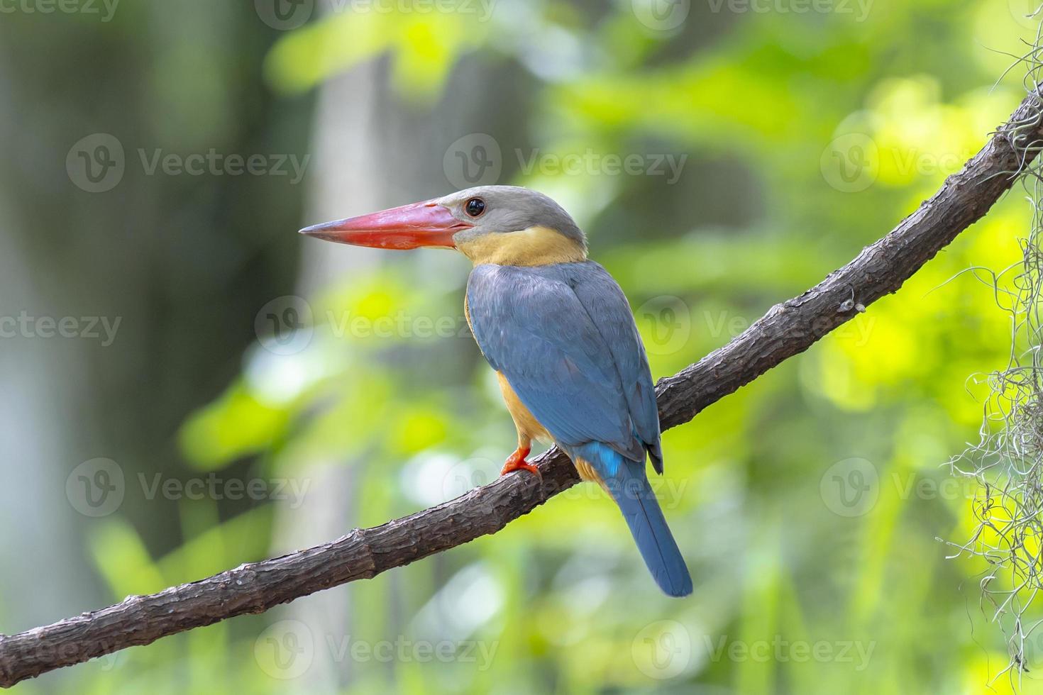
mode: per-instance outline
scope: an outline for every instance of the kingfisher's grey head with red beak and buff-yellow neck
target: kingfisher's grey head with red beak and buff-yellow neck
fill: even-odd
[[[300,233],[381,249],[457,249],[476,265],[540,266],[586,258],[586,238],[568,213],[542,193],[516,185],[480,185],[316,224]]]

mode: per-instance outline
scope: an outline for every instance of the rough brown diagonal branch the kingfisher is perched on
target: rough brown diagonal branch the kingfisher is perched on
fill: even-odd
[[[660,379],[656,393],[663,429],[688,422],[707,405],[806,350],[860,306],[896,292],[980,219],[1035,158],[1043,138],[1040,109],[1040,96],[1030,94],[961,172],[887,237],[804,294],[773,306],[729,344]],[[355,529],[332,543],[0,636],[0,687],[234,616],[263,613],[495,533],[579,481],[557,448],[537,464],[542,485],[531,475],[507,475],[444,504]]]

